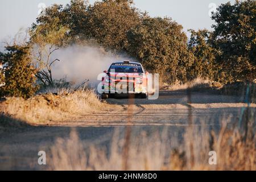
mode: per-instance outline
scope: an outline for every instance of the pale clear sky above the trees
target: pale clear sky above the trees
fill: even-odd
[[[3,42],[10,42],[19,30],[26,30],[35,22],[41,5],[50,6],[54,3],[67,4],[70,0],[1,0],[0,1],[0,51]],[[235,0],[230,0],[234,3]],[[95,0],[89,0],[94,3]],[[207,28],[211,30],[214,23],[209,12],[216,9],[225,0],[134,0],[134,6],[147,11],[152,17],[168,16],[187,30]],[[42,7],[42,6],[41,6]]]

